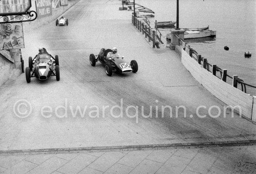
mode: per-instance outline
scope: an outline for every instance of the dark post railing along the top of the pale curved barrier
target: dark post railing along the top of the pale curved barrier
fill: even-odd
[[[227,77],[229,77],[230,79],[232,79],[232,86],[237,88],[237,84],[241,84],[241,90],[245,93],[246,93],[246,86],[256,88],[256,86],[254,86],[252,84],[245,83],[242,79],[238,78],[237,75],[233,75],[233,77],[228,75],[226,69],[222,70],[216,64],[210,64],[207,61],[207,58],[203,58],[201,56],[201,54],[198,54],[195,50],[190,48],[190,46],[183,39],[180,39],[177,35],[175,35],[175,36],[179,39],[179,45],[182,45],[182,49],[186,51],[186,47],[187,47],[187,49],[189,50],[189,56],[191,58],[194,58],[198,64],[201,64],[204,69],[211,72],[214,76],[216,76],[216,72],[220,72],[220,77],[218,77],[218,76],[216,76],[216,77],[218,77],[219,79],[221,79],[224,82],[227,82]],[[209,66],[212,67],[211,70],[210,70]]]

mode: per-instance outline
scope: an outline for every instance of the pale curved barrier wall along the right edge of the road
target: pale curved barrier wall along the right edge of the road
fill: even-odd
[[[180,47],[181,48],[181,47]],[[243,91],[236,89],[230,84],[223,82],[218,77],[211,74],[198,64],[193,58],[189,56],[182,48],[182,64],[187,68],[195,79],[202,84],[202,86],[212,93],[222,102],[232,107],[240,106],[242,115],[250,120],[256,121],[256,98],[252,97]],[[178,51],[178,50],[177,50]],[[178,51],[179,52],[179,51]],[[254,107],[254,108],[253,108]],[[235,108],[239,111],[238,108]],[[254,116],[253,116],[254,111]]]

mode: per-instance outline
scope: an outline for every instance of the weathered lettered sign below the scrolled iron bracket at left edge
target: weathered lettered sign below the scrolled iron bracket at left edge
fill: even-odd
[[[0,50],[24,48],[22,22],[0,24]]]

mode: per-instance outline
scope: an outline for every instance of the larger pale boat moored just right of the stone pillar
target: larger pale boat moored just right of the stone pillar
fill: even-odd
[[[185,30],[184,39],[195,39],[205,37],[216,37],[216,31],[209,30],[209,26],[204,28],[182,28]]]

